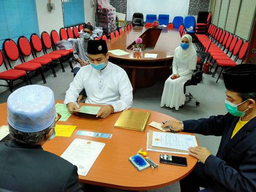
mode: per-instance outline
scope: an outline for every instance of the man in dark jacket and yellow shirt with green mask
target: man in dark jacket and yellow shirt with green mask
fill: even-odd
[[[204,147],[189,148],[189,154],[200,162],[180,180],[181,192],[198,192],[199,186],[207,192],[256,192],[256,65],[231,67],[223,79],[229,113],[169,121],[162,126],[176,132],[222,136],[216,156]]]

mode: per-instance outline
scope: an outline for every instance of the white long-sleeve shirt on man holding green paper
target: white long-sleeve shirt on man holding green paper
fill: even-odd
[[[90,64],[81,67],[66,91],[64,104],[76,104],[81,90],[85,89],[85,103],[112,105],[114,112],[131,108],[131,82],[121,67],[108,61],[103,70],[96,70]]]

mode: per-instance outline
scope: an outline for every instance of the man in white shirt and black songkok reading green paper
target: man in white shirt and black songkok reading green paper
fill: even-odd
[[[79,110],[76,99],[85,89],[85,103],[103,106],[97,117],[106,118],[111,113],[123,111],[132,105],[131,82],[121,67],[108,61],[106,41],[88,41],[89,62],[79,70],[66,92],[64,103],[70,113]]]

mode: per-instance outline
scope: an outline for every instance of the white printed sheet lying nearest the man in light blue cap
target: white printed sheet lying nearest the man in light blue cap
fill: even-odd
[[[78,168],[78,175],[86,176],[104,148],[105,143],[76,138],[61,157]]]

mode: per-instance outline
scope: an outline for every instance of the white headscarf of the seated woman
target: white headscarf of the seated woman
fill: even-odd
[[[188,38],[189,40],[189,48],[186,50],[182,49],[180,46],[175,49],[175,57],[183,60],[184,62],[189,63],[189,69],[190,70],[195,70],[196,66],[196,60],[194,58],[197,57],[197,53],[195,50],[195,47],[192,44],[192,37],[189,34],[183,35],[181,39],[183,38]]]

